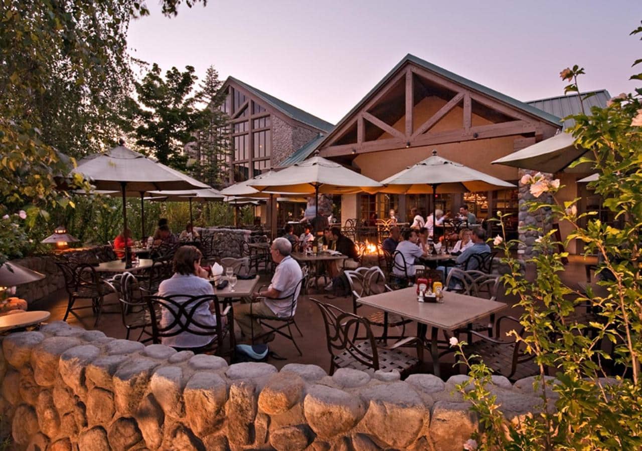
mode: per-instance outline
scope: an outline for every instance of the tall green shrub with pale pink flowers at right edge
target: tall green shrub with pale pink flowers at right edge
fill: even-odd
[[[642,28],[634,31],[642,33]],[[584,70],[578,66],[560,73],[573,81]],[[599,285],[604,294],[577,291],[560,280],[564,271],[554,230],[535,243],[535,257],[528,260],[535,267],[534,280],[519,273],[519,262],[509,248],[517,241],[503,242],[502,259],[512,272],[502,277],[507,293],[518,298],[524,313],[520,322],[523,335],[509,334],[526,346],[539,365],[541,376],[553,368],[555,380],[539,380],[544,388],[541,413],[535,420],[520,425],[503,420],[495,399],[486,384],[489,369],[470,365],[472,389],[464,396],[480,414],[482,449],[639,449],[642,447],[642,90],[621,94],[606,108],[591,108],[591,115],[574,115],[575,126],[569,130],[576,144],[590,149],[581,162],[589,162],[600,174],[589,188],[605,199],[614,212],[616,223],[605,224],[590,214],[578,214],[577,201],[559,203],[556,194],[559,180],[550,181],[541,174],[525,176],[522,183],[531,185],[536,196],[528,203],[531,211],[550,208],[553,223],[565,221],[573,231],[564,243],[584,243],[586,255],[599,256]],[[537,194],[536,194],[537,193]],[[540,194],[550,194],[548,196]],[[503,225],[506,215],[499,214]],[[586,227],[580,222],[586,221]],[[598,311],[598,319],[589,323],[577,320],[576,311],[588,304]],[[589,331],[591,333],[589,333]],[[613,352],[611,352],[611,348]],[[465,347],[464,347],[465,350]],[[614,379],[600,379],[610,374]],[[461,386],[462,392],[465,386]],[[546,393],[559,395],[555,409]]]

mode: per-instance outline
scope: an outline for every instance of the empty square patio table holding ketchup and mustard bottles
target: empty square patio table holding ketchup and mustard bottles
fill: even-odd
[[[485,318],[490,314],[499,312],[507,307],[503,302],[476,298],[465,294],[444,291],[444,302],[417,302],[417,287],[408,287],[396,291],[374,294],[360,298],[358,302],[394,313],[402,318],[417,321],[417,337],[426,343],[426,332],[431,327],[429,339],[430,354],[433,360],[433,373],[439,377],[439,348],[438,332],[448,332],[465,327],[477,319]],[[426,343],[428,344],[428,343]],[[423,360],[423,346],[417,346],[417,357]]]

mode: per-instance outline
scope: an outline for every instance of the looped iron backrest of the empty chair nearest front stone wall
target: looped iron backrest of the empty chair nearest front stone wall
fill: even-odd
[[[356,361],[373,370],[379,370],[379,355],[377,343],[370,328],[370,321],[352,313],[344,312],[334,305],[322,303],[314,298],[310,300],[317,304],[323,316],[327,350],[330,352],[332,368],[342,366],[340,359],[345,352],[352,361]],[[360,333],[361,332],[361,333]],[[358,346],[355,337],[364,337],[370,346]]]

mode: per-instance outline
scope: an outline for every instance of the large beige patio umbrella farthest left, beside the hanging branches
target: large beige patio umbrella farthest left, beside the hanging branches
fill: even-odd
[[[121,192],[123,230],[127,228],[125,196],[128,191],[139,192],[142,205],[144,193],[147,191],[208,187],[205,183],[126,148],[124,144],[121,140],[119,146],[107,152],[82,158],[78,166],[71,171],[72,174],[83,174],[97,189]],[[129,249],[125,246],[125,261],[129,260]]]

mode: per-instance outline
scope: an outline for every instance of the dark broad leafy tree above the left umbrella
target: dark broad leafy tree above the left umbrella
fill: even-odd
[[[162,78],[159,65],[153,64],[143,80],[134,83],[137,99],[129,99],[123,123],[131,123],[136,144],[145,153],[179,170],[187,166],[184,147],[205,124],[198,99],[191,96],[197,79],[194,67],[185,69],[172,67]]]

